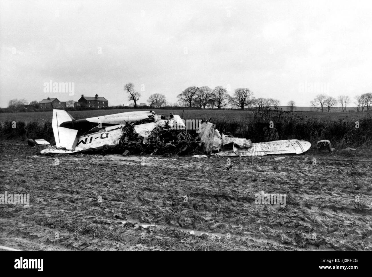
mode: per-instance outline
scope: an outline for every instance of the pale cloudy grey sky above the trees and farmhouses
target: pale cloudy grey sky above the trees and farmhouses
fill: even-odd
[[[128,82],[140,102],[158,92],[173,103],[188,86],[245,87],[297,106],[310,106],[322,88],[335,97],[372,91],[371,1],[0,5],[0,107],[96,93],[127,105]],[[50,80],[74,82],[75,94],[44,93]]]

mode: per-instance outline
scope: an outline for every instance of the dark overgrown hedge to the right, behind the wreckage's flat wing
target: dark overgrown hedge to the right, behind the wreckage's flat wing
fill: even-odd
[[[372,140],[372,118],[355,121],[303,118],[291,112],[261,110],[252,116],[237,121],[213,121],[225,134],[241,136],[252,142],[267,142],[282,139],[304,139],[316,143],[328,139],[336,148],[356,147]],[[270,122],[272,122],[270,128]]]

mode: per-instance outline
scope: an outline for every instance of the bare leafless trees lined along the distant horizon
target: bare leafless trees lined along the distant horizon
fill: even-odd
[[[129,93],[128,99],[133,100],[134,108],[137,108],[137,102],[141,97],[141,93],[134,89],[133,83],[127,83],[124,86],[124,92]],[[179,99],[177,103],[172,106],[189,107],[189,108],[209,108],[209,109],[224,109],[227,107],[238,108],[244,110],[245,108],[271,108],[278,107],[280,100],[273,98],[255,98],[253,92],[248,88],[237,88],[234,90],[231,96],[227,89],[222,86],[217,86],[214,89],[208,86],[196,87],[189,86],[177,95]],[[166,96],[161,93],[153,93],[147,99],[147,103],[150,106],[152,103],[168,103]],[[352,98],[347,95],[340,95],[336,98],[327,96],[325,94],[318,94],[310,104],[317,110],[323,112],[327,110],[331,111],[337,103],[341,105],[341,111],[346,112],[347,106],[352,102]],[[34,100],[27,104],[26,99],[12,99],[8,103],[10,111],[21,111],[26,105],[32,106],[38,109],[38,101]],[[355,96],[356,112],[363,112],[365,109],[369,111],[372,105],[372,93],[364,93],[362,95]],[[74,107],[74,100],[68,100],[66,102],[67,107]],[[294,111],[295,102],[293,100],[287,103],[288,110]]]

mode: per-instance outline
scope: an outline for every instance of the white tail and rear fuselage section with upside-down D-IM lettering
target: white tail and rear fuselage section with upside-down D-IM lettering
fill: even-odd
[[[153,111],[124,112],[113,115],[74,120],[63,110],[53,110],[52,128],[55,146],[41,151],[41,154],[72,154],[84,151],[97,151],[113,148],[118,145],[123,127],[127,124],[134,126],[139,138],[145,139],[155,127],[183,124],[180,116],[163,119]]]

